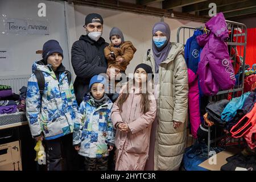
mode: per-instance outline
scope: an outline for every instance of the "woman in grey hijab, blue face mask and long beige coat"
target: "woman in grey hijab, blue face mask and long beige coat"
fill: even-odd
[[[167,23],[154,25],[152,49],[144,63],[155,72],[157,101],[157,116],[152,124],[150,153],[145,170],[179,170],[185,149],[188,72],[183,45],[170,42]]]

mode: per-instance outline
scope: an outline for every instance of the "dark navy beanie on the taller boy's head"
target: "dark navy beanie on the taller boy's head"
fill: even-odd
[[[47,58],[52,53],[60,53],[63,58],[63,49],[60,47],[59,42],[57,40],[48,40],[46,43],[44,43],[43,46],[43,60],[44,64],[47,64]]]

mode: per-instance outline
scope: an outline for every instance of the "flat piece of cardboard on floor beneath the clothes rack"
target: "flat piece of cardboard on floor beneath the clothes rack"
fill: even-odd
[[[226,158],[238,154],[241,150],[231,147],[229,150],[219,152],[216,155],[211,156],[209,159],[205,160],[203,163],[199,164],[200,167],[208,169],[210,171],[220,171],[221,166],[228,163]]]

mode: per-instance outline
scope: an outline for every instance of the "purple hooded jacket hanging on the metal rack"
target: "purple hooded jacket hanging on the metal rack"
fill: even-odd
[[[224,15],[218,13],[213,16],[205,23],[205,27],[210,32],[196,38],[197,43],[204,47],[200,54],[197,74],[201,90],[204,95],[210,96],[218,93],[219,89],[231,89],[236,78],[225,42],[229,34]]]

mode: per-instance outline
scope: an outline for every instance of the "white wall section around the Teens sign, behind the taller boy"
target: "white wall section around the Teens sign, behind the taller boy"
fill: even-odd
[[[46,3],[46,17],[38,16],[38,4]],[[0,32],[5,31],[2,14],[6,18],[48,20],[49,35],[15,35],[0,34],[0,49],[13,52],[13,71],[0,72],[0,76],[30,75],[34,60],[42,58],[36,54],[42,50],[44,42],[49,39],[59,41],[64,51],[64,66],[69,69],[67,33],[65,30],[64,2],[42,0],[0,0]]]

